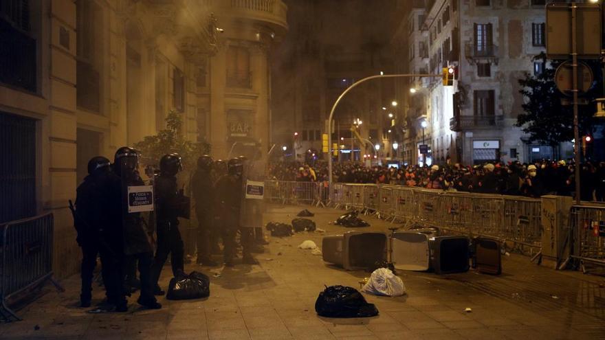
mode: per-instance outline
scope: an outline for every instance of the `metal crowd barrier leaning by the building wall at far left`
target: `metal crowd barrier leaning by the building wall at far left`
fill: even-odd
[[[52,279],[54,220],[52,213],[0,225],[0,316],[19,319],[8,301]]]

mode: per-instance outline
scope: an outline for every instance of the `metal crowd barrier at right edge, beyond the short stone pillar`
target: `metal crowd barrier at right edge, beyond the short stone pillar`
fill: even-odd
[[[572,257],[605,264],[605,206],[574,205],[570,217]]]

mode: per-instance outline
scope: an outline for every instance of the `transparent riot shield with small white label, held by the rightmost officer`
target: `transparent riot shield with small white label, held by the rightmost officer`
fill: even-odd
[[[264,164],[261,161],[245,161],[242,174],[241,227],[263,227],[265,212],[265,182],[263,179]]]

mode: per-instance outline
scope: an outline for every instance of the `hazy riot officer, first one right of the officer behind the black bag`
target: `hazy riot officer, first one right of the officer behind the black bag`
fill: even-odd
[[[210,233],[214,225],[214,185],[210,178],[212,157],[202,155],[197,159],[197,170],[191,178],[191,189],[195,199],[195,214],[197,215],[197,263],[206,266],[216,266],[210,258]]]

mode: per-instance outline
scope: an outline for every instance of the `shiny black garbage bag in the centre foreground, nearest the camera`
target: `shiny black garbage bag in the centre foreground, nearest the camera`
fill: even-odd
[[[315,311],[322,317],[375,317],[378,310],[353,287],[329,286],[319,293]]]

